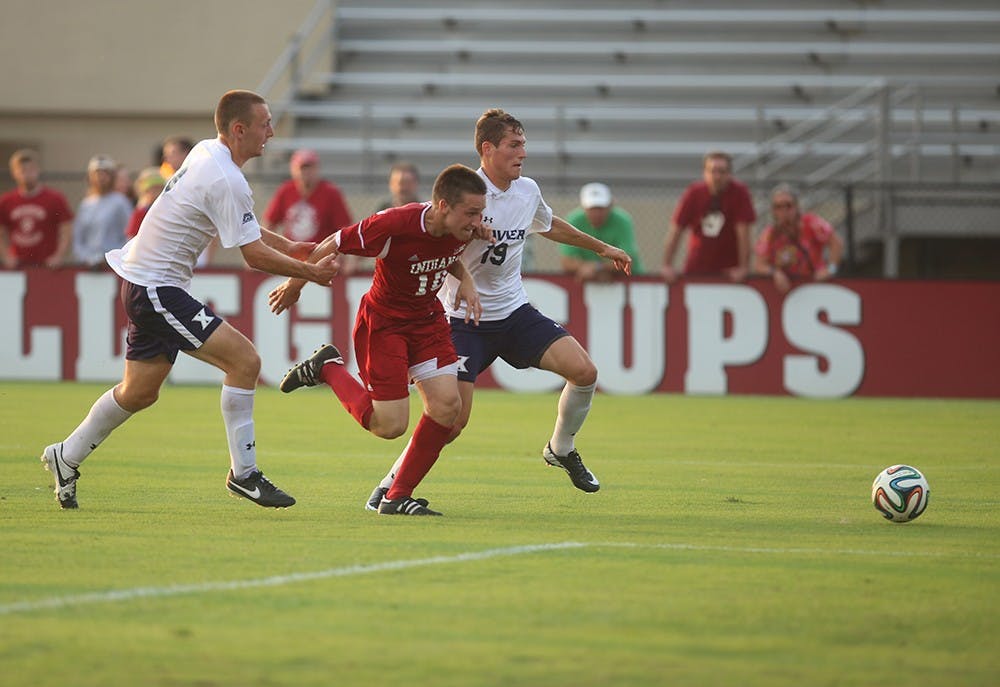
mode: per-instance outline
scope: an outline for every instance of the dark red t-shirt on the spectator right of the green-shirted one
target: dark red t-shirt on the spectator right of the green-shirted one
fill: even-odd
[[[739,266],[736,225],[756,219],[750,190],[742,182],[731,180],[718,196],[704,181],[688,186],[673,216],[681,230],[690,230],[684,273],[717,274]]]

